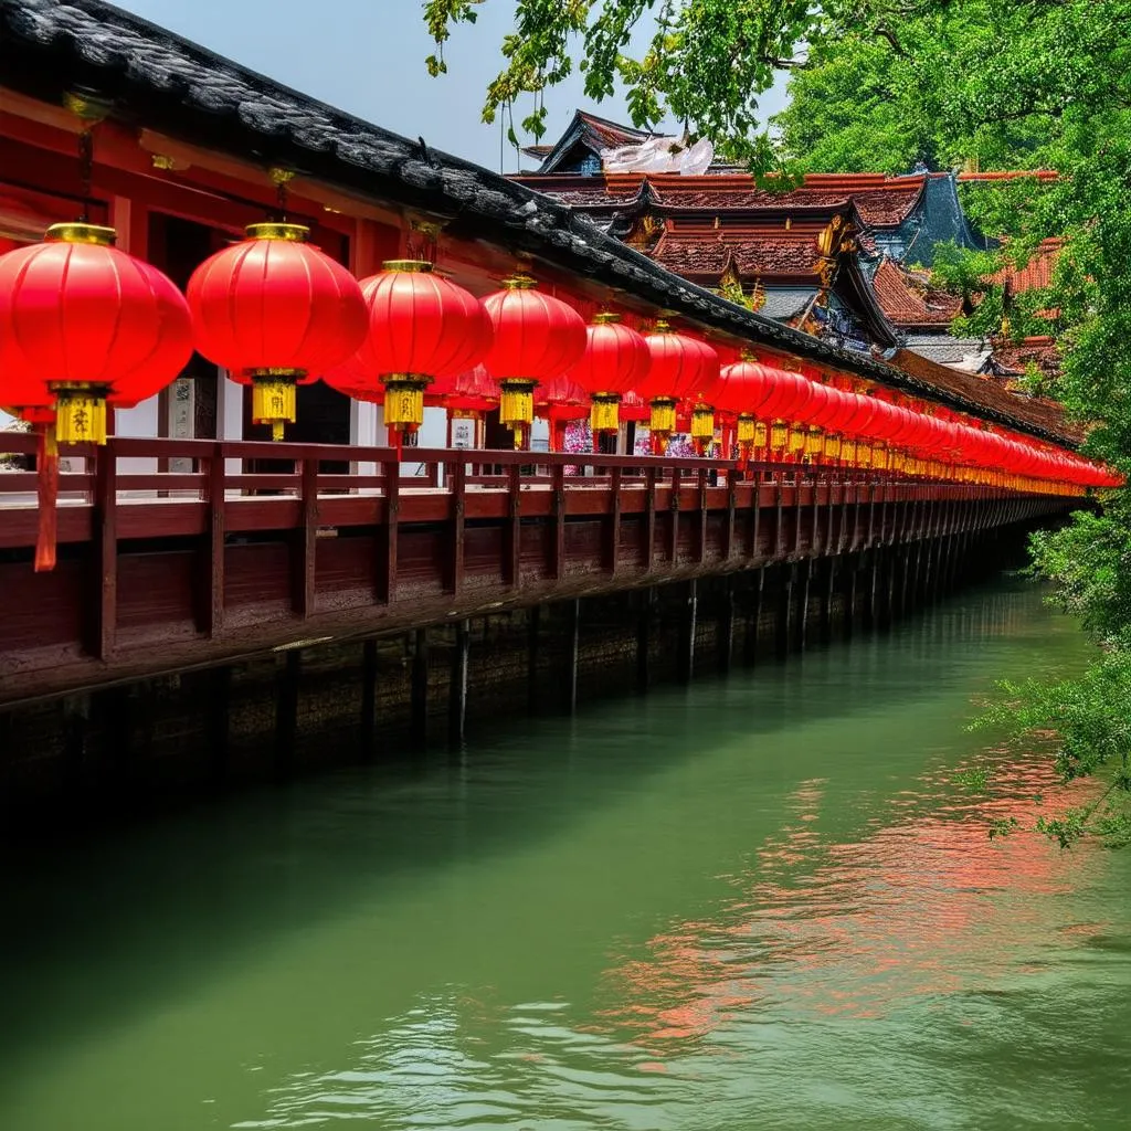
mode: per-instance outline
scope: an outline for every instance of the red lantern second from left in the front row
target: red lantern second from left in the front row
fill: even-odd
[[[295,386],[345,361],[368,325],[357,280],[309,235],[302,224],[252,224],[189,279],[197,348],[251,385],[251,418],[275,440],[295,418]]]

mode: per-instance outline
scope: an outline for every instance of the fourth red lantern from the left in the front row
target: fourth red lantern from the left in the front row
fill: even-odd
[[[499,420],[513,430],[518,443],[534,421],[535,387],[571,369],[586,343],[581,316],[534,287],[528,275],[515,275],[483,300],[494,330],[483,363],[502,389]]]

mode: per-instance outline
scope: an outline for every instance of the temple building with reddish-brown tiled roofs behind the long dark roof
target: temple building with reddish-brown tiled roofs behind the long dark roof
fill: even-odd
[[[578,111],[555,145],[524,150],[538,165],[515,180],[670,270],[843,348],[888,359],[912,353],[994,377],[1024,371],[1039,349],[1043,365],[1055,356],[1051,338],[1022,349],[956,337],[950,325],[962,313],[961,300],[931,285],[941,243],[999,247],[966,216],[959,183],[1008,174],[817,173],[770,191],[714,161],[694,175],[665,169],[662,159],[613,171],[624,167],[620,155],[649,140],[655,144],[651,135]],[[1015,291],[1047,285],[1050,262],[1043,253],[996,282]]]

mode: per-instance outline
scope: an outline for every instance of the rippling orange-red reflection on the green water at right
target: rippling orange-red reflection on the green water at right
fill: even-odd
[[[1050,899],[1071,889],[1091,852],[1061,853],[1028,834],[991,841],[987,827],[1012,817],[1031,828],[1089,787],[1060,786],[1043,762],[1002,768],[993,800],[940,806],[943,785],[924,779],[897,806],[898,823],[827,844],[813,828],[821,784],[806,783],[791,798],[794,823],[729,878],[739,898],[608,973],[619,1001],[602,1026],[670,1047],[753,1010],[878,1018],[909,998],[984,985],[990,970],[1031,972],[1021,958],[1050,944]]]

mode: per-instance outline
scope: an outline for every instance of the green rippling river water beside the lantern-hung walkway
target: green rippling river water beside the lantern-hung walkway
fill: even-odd
[[[0,1128],[1125,1129],[1131,857],[991,843],[1080,794],[966,729],[1082,662],[1003,582],[10,853]]]

